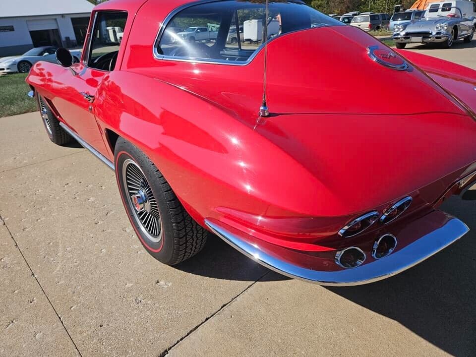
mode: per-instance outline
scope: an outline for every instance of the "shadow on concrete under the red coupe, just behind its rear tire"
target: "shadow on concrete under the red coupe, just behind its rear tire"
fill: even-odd
[[[211,233],[200,253],[174,268],[190,274],[238,281],[256,281],[270,271]],[[267,281],[289,279],[279,274],[269,274],[267,277]]]

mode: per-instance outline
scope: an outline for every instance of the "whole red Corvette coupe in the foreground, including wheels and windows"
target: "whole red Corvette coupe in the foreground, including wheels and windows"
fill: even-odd
[[[50,139],[115,170],[165,264],[211,231],[287,276],[357,285],[468,232],[438,207],[476,179],[469,68],[299,0],[111,0],[80,62],[57,59],[27,78]]]

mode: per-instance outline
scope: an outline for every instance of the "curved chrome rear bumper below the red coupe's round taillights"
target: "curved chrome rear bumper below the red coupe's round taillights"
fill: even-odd
[[[244,241],[236,234],[209,219],[205,219],[205,225],[238,251],[271,270],[294,279],[328,286],[362,285],[386,279],[431,257],[469,231],[469,228],[459,219],[451,218],[442,227],[385,258],[363,264],[354,269],[318,271],[303,268],[280,259],[275,254],[272,255],[261,249],[257,244]]]

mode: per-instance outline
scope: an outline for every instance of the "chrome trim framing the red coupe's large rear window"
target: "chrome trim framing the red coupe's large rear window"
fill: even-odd
[[[191,6],[201,5],[201,4],[205,4],[205,3],[209,3],[209,2],[220,2],[220,1],[232,1],[232,0],[198,0],[198,1],[185,3],[185,4],[180,5],[179,7],[175,8],[174,10],[172,10],[166,16],[164,21],[160,24],[159,30],[157,32],[157,36],[155,37],[154,45],[152,46],[152,55],[154,56],[154,58],[156,60],[173,60],[173,61],[190,62],[190,63],[209,63],[209,64],[225,64],[225,65],[245,66],[245,65],[249,64],[252,60],[254,60],[254,58],[258,55],[258,53],[261,51],[261,49],[264,48],[265,44],[267,44],[267,43],[269,44],[271,41],[273,41],[273,40],[275,40],[279,37],[286,36],[288,34],[292,34],[292,33],[299,32],[299,31],[309,30],[309,29],[313,28],[313,27],[309,27],[309,28],[306,28],[306,29],[299,29],[299,30],[290,31],[290,32],[286,32],[284,34],[275,36],[275,37],[269,39],[268,41],[265,41],[265,43],[261,44],[258,48],[256,48],[256,50],[254,50],[252,55],[246,61],[235,61],[235,62],[233,62],[233,61],[227,61],[227,60],[203,60],[203,59],[191,59],[191,58],[188,58],[188,57],[165,56],[165,55],[159,54],[158,48],[159,48],[160,40],[162,39],[162,35],[164,34],[165,29],[169,25],[169,22],[174,18],[175,15],[177,15],[180,11],[185,10],[186,8],[191,7]],[[300,0],[288,0],[288,1],[306,5],[306,3],[304,1],[300,1]],[[327,16],[324,13],[322,13],[322,15]],[[342,23],[342,25],[337,25],[336,24],[336,25],[319,26],[319,28],[320,27],[333,27],[333,26],[346,26],[346,24]]]

